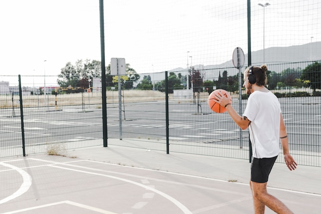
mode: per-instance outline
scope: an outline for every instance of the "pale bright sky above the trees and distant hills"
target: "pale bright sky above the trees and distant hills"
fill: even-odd
[[[321,41],[318,0],[267,1],[251,1],[252,51]],[[107,65],[121,57],[137,73],[163,72],[248,53],[245,0],[109,0],[104,14]],[[101,61],[98,0],[0,0],[0,29],[0,81],[10,85],[21,74],[24,85],[56,86],[67,62]]]

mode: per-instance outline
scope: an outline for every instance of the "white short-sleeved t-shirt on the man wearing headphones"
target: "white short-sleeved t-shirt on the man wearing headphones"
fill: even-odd
[[[280,103],[272,92],[251,93],[243,116],[251,121],[249,129],[254,158],[278,155],[280,113]]]

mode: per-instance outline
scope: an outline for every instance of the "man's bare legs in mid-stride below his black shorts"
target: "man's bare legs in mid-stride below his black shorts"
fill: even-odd
[[[267,207],[272,209],[278,214],[293,214],[293,212],[280,200],[271,196],[267,191],[267,183],[256,183],[251,181],[251,189],[253,192],[253,201],[254,201],[254,210],[255,214],[262,214],[264,212],[256,212],[256,205],[258,208],[262,208],[262,205],[255,204],[255,200],[260,201],[262,204],[265,204]]]

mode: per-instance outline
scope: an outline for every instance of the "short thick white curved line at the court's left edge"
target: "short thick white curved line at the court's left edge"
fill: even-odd
[[[32,184],[32,179],[31,179],[31,176],[26,171],[24,171],[16,166],[12,166],[10,164],[6,164],[3,162],[0,162],[0,165],[3,165],[3,166],[11,168],[13,170],[16,170],[18,173],[21,174],[21,176],[23,178],[23,183],[19,187],[19,189],[16,192],[14,192],[13,194],[11,194],[11,196],[8,196],[7,198],[4,198],[0,201],[0,204],[3,204],[3,203],[6,203],[12,199],[15,199],[15,198],[21,196],[23,193],[28,191],[28,189],[30,188],[30,186]]]

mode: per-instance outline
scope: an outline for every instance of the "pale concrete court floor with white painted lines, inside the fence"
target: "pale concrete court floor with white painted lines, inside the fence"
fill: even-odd
[[[0,214],[254,213],[247,160],[118,146],[64,155],[0,159]],[[294,213],[319,213],[320,174],[276,163],[268,191]]]

